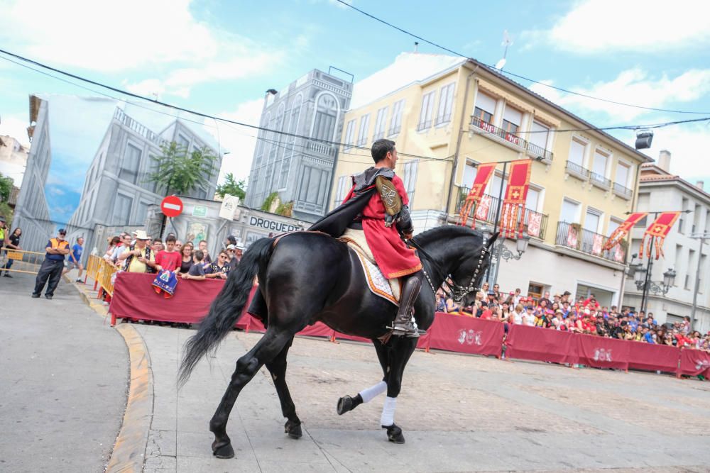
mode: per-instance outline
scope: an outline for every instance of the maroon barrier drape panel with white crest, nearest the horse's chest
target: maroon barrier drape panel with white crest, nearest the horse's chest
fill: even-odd
[[[503,324],[439,312],[430,328],[429,346],[437,350],[500,357]]]

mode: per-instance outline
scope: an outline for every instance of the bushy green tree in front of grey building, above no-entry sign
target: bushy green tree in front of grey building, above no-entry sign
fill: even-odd
[[[188,194],[199,187],[208,187],[217,160],[208,148],[187,152],[185,146],[173,141],[160,149],[163,154],[155,157],[155,172],[148,175],[148,182],[157,183],[165,194]]]

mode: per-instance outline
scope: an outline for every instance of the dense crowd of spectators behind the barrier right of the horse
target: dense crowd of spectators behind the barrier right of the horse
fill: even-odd
[[[484,283],[475,300],[460,307],[439,289],[437,310],[500,321],[506,324],[506,332],[509,325],[529,325],[710,352],[710,332],[701,335],[697,330],[690,330],[689,317],[682,322],[659,324],[653,313],[601,306],[594,294],[574,299],[569,291],[553,296],[545,292],[535,298],[521,294],[520,289],[505,293],[498,284],[490,289],[488,283]]]

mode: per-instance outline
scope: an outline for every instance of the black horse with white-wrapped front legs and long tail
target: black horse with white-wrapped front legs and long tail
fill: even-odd
[[[486,240],[476,230],[459,226],[442,226],[428,230],[413,239],[428,284],[422,287],[415,304],[415,319],[422,329],[434,321],[435,288],[449,279],[455,299],[478,289],[490,262],[490,247],[498,234]],[[285,381],[286,356],[293,336],[306,325],[321,321],[334,330],[373,340],[382,365],[383,382],[363,391],[364,396],[346,396],[338,403],[344,413],[361,401],[387,391],[381,424],[387,428],[389,440],[403,443],[401,429],[394,424],[394,401],[400,392],[405,365],[415,350],[417,338],[391,337],[386,344],[379,338],[388,333],[396,307],[375,296],[366,287],[360,262],[341,241],[319,233],[292,233],[280,240],[262,238],[244,253],[239,267],[229,274],[224,288],[212,302],[209,313],[200,323],[197,334],[185,344],[180,365],[180,384],[202,356],[217,347],[234,328],[246,304],[254,277],[261,282],[256,296],[263,297],[268,307],[264,323],[266,333],[261,340],[236,362],[231,382],[217,407],[209,430],[214,433],[212,452],[219,458],[231,458],[234,449],[226,435],[226,423],[239,392],[263,365],[271,372],[285,423],[285,432],[299,438],[300,419]],[[346,402],[344,402],[346,401]],[[391,401],[388,404],[388,401]]]

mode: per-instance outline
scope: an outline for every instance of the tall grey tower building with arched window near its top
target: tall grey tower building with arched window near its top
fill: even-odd
[[[317,69],[285,89],[267,92],[246,189],[246,205],[261,208],[274,192],[293,202],[293,216],[315,221],[324,215],[344,111],[352,83]],[[297,135],[297,136],[295,136]]]

